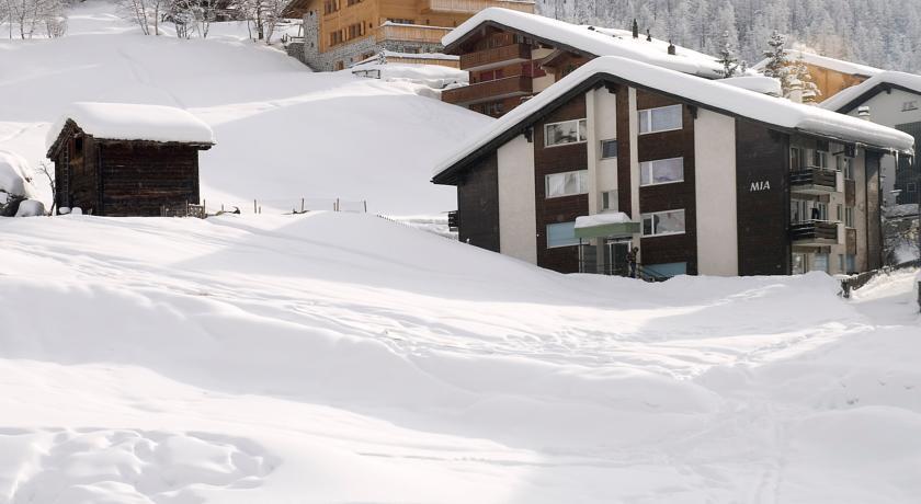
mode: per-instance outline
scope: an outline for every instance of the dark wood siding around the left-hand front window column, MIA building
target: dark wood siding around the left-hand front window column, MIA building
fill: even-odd
[[[544,125],[584,117],[585,95],[580,94],[534,125],[537,265],[561,273],[576,273],[579,271],[578,247],[547,249],[547,225],[571,222],[576,220],[576,217],[587,215],[589,211],[589,196],[581,194],[547,199],[545,176],[550,173],[587,170],[589,158],[585,144],[544,147]]]

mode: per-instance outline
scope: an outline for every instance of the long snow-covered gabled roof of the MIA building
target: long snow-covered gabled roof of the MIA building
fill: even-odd
[[[535,117],[539,115],[542,108],[598,75],[612,76],[630,84],[679,96],[717,112],[747,117],[782,129],[900,151],[912,151],[914,145],[914,138],[908,134],[848,115],[633,59],[601,57],[577,68],[560,81],[493,122],[480,135],[439,163],[434,169],[434,175],[441,175],[486,147],[491,140],[523,125],[528,119],[536,121]]]

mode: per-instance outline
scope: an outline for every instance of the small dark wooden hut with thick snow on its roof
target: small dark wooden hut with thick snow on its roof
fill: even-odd
[[[48,131],[55,203],[99,216],[159,216],[198,204],[198,151],[214,145],[180,108],[76,103]]]

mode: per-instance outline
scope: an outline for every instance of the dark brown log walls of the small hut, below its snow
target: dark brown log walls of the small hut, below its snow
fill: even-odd
[[[160,216],[200,203],[198,151],[205,145],[98,139],[68,122],[49,152],[55,204],[84,214]]]

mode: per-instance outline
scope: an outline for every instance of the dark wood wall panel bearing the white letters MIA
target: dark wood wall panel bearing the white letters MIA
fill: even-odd
[[[736,119],[739,275],[787,275],[789,245],[789,137]],[[768,182],[770,190],[752,190]]]

